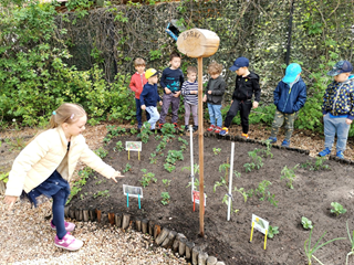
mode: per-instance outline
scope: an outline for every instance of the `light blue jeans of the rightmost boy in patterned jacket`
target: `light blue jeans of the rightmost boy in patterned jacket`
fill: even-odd
[[[331,117],[326,114],[323,117],[324,123],[324,147],[332,149],[334,136],[336,135],[336,151],[344,151],[346,148],[347,135],[351,126],[345,124],[346,117]]]

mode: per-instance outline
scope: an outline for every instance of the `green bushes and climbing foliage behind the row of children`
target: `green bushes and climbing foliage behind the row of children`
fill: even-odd
[[[261,77],[262,103],[251,114],[251,123],[272,121],[272,92],[285,68],[290,0],[125,6],[104,1],[103,8],[75,0],[66,3],[71,12],[65,13],[58,13],[53,4],[27,1],[24,7],[23,2],[4,1],[0,7],[1,126],[13,118],[24,126],[44,125],[63,102],[82,104],[92,124],[107,118],[132,120],[134,95],[127,88],[134,73],[132,62],[142,56],[148,67],[168,65],[169,53],[177,49],[165,32],[171,19],[187,29],[218,33],[219,50],[204,60],[204,67],[211,60],[225,66],[228,89],[223,115],[235,82],[228,67],[242,55]],[[336,61],[352,60],[353,18],[350,0],[295,1],[291,62],[302,65],[309,92],[296,128],[322,130],[322,96],[331,82],[325,73]],[[196,60],[184,57],[181,68],[190,64],[196,65]]]

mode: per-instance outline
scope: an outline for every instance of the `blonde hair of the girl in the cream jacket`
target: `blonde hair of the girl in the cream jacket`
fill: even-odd
[[[87,114],[81,105],[64,103],[52,113],[49,129],[54,129],[64,123],[74,124],[83,116]]]

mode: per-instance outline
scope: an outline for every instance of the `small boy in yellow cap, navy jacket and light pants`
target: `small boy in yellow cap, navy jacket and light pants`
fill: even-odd
[[[157,77],[158,72],[154,68],[149,68],[145,72],[145,77],[147,83],[144,85],[143,92],[140,94],[140,104],[142,109],[148,112],[150,115],[149,120],[150,129],[155,129],[156,121],[159,119],[159,114],[157,112],[156,103],[159,102],[159,105],[163,106],[162,98],[157,93]]]

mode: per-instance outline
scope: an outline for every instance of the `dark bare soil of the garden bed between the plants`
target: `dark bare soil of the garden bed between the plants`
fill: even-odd
[[[159,140],[155,135],[149,141],[143,145],[140,161],[137,152],[131,152],[131,160],[126,151],[115,152],[113,148],[118,140],[125,145],[126,140],[139,140],[136,136],[122,136],[114,138],[105,149],[110,151],[104,159],[118,170],[123,170],[126,163],[132,166],[132,170],[125,173],[125,179],[118,180],[118,184],[95,173],[95,178],[90,178],[81,193],[76,195],[71,205],[76,208],[96,208],[103,212],[127,212],[134,216],[144,216],[155,220],[176,230],[200,245],[209,255],[215,255],[227,264],[305,264],[304,241],[309,237],[310,231],[301,225],[301,218],[306,216],[313,224],[312,245],[326,231],[322,240],[329,241],[334,237],[347,237],[345,222],[354,229],[354,220],[350,219],[354,212],[354,179],[353,167],[344,166],[335,161],[325,161],[331,170],[309,170],[299,167],[295,171],[296,178],[293,182],[294,189],[287,187],[287,180],[280,180],[281,170],[284,166],[293,168],[298,163],[315,162],[314,158],[301,155],[295,151],[271,149],[273,158],[262,158],[264,165],[259,170],[246,172],[243,165],[251,162],[248,152],[254,148],[266,149],[259,144],[236,142],[233,170],[241,172],[240,178],[233,177],[233,187],[244,188],[244,190],[257,189],[262,180],[271,181],[269,192],[275,195],[278,206],[272,205],[267,199],[260,201],[258,195],[253,195],[244,203],[243,197],[238,192],[232,192],[235,201],[233,208],[238,213],[232,213],[231,220],[227,219],[227,205],[222,198],[227,193],[223,187],[217,188],[214,192],[214,184],[220,181],[223,172],[219,172],[219,166],[230,158],[231,141],[207,137],[204,138],[205,156],[205,192],[207,194],[207,206],[205,211],[205,237],[199,234],[199,208],[192,212],[190,198],[190,187],[188,170],[181,170],[190,166],[189,146],[184,151],[184,160],[177,161],[176,169],[169,173],[164,169],[164,163],[168,150],[179,150],[181,144],[178,136],[167,144],[164,157],[158,157],[157,163],[149,162],[149,156],[155,151]],[[183,136],[189,141],[188,136]],[[221,148],[219,155],[215,155],[212,148]],[[199,163],[198,158],[198,136],[194,136],[195,163]],[[143,177],[142,169],[155,173],[156,183],[150,183],[144,188],[142,199],[142,210],[138,209],[137,199],[129,200],[129,208],[126,206],[126,197],[123,194],[123,184],[142,187],[139,180]],[[198,176],[197,176],[198,177]],[[163,179],[171,180],[166,187]],[[101,183],[97,181],[103,180]],[[98,191],[110,190],[108,198],[93,198]],[[167,191],[170,194],[168,205],[162,204],[160,193]],[[86,193],[86,195],[85,195]],[[83,194],[83,199],[80,195]],[[331,202],[341,203],[347,212],[340,216],[331,213]],[[252,243],[250,240],[251,215],[257,214],[270,222],[272,226],[279,226],[280,234],[273,240],[268,240],[267,250],[263,250],[264,236],[258,231],[253,233]],[[336,241],[325,245],[315,253],[315,256],[324,264],[345,264],[346,253],[350,252],[348,240]],[[352,261],[354,262],[354,261]]]

